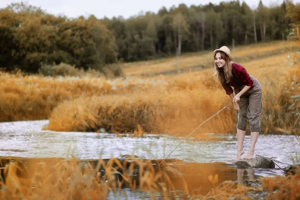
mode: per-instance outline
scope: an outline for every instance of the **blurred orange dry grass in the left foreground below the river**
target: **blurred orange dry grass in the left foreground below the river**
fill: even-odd
[[[0,169],[4,178],[0,180],[0,199],[106,199],[108,192],[124,187],[149,193],[152,198],[161,192],[168,199],[167,192],[174,189],[170,178],[177,174],[165,163],[156,167],[150,160],[100,159],[94,166],[75,158],[44,159],[38,159],[40,163],[32,159],[31,163],[19,158]]]

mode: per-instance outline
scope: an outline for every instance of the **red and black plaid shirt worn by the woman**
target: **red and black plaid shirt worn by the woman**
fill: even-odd
[[[253,88],[253,80],[250,78],[250,75],[246,71],[246,69],[237,63],[232,63],[232,72],[235,74],[235,77],[239,80],[239,82],[243,85],[251,86],[250,89]],[[233,89],[231,86],[234,88],[239,87],[239,85],[231,78],[228,83],[221,83],[223,88],[226,91],[226,94],[231,94],[233,93]]]

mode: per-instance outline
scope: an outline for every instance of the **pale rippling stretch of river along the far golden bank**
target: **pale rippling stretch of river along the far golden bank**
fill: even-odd
[[[184,137],[162,134],[145,134],[143,137],[117,137],[110,133],[55,132],[41,130],[48,120],[16,121],[0,123],[0,156],[67,157],[79,159],[117,157],[134,154],[142,158],[163,159]],[[210,134],[212,140],[187,139],[168,158],[193,160],[194,162],[226,161],[234,158],[236,138],[234,134]],[[245,151],[250,136],[244,140]],[[255,153],[273,157],[284,167],[300,152],[300,140],[293,135],[259,135]],[[246,152],[245,152],[246,153]]]

